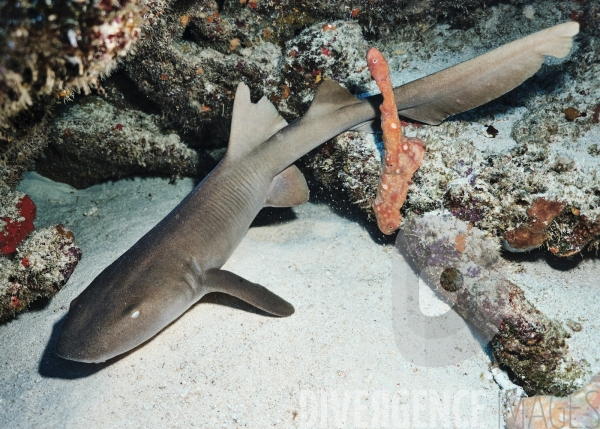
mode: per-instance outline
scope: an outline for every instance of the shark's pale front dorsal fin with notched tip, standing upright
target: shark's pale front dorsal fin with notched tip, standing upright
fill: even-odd
[[[240,82],[233,101],[227,155],[234,158],[247,155],[286,125],[286,120],[266,97],[252,103],[250,88]]]

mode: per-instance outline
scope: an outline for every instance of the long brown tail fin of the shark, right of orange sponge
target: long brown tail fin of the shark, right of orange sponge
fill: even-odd
[[[556,25],[395,88],[398,113],[437,125],[450,115],[481,106],[533,76],[544,55],[567,56],[578,32],[577,22]]]

